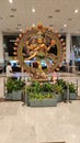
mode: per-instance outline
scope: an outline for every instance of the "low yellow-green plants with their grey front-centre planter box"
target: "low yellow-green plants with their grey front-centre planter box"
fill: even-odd
[[[30,106],[31,107],[56,107],[57,101],[53,94],[30,94]]]

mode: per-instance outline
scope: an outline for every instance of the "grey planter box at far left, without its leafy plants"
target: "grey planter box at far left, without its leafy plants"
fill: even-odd
[[[22,99],[22,90],[13,91],[12,94],[7,94],[5,99],[8,100],[21,100]]]

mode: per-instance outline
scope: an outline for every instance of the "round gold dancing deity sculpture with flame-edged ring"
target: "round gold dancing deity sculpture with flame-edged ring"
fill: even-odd
[[[46,74],[60,67],[65,58],[65,43],[59,34],[48,28],[37,25],[22,33],[16,43],[15,52],[21,66],[33,74],[34,78],[45,78]],[[37,68],[30,67],[24,61],[36,61]],[[44,61],[44,67],[43,63]],[[52,64],[50,64],[52,63]]]

